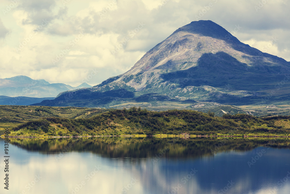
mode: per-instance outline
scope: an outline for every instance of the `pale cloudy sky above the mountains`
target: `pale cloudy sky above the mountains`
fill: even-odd
[[[0,78],[91,85],[192,21],[290,61],[289,0],[1,0]]]

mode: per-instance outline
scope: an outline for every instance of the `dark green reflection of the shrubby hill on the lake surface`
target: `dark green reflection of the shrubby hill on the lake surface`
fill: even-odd
[[[249,151],[256,147],[289,148],[287,138],[12,138],[11,143],[45,154],[92,152],[109,158],[196,158],[219,152]]]

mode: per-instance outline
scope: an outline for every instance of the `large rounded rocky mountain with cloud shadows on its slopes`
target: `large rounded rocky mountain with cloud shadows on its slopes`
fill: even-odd
[[[212,21],[201,20],[177,29],[148,51],[128,72],[92,88],[77,90],[77,93],[78,96],[82,92],[91,93],[90,99],[97,100],[94,93],[124,89],[133,92],[135,97],[165,95],[180,103],[193,100],[235,106],[287,104],[289,70],[290,62],[240,42]],[[63,102],[61,95],[68,95],[70,99],[62,106],[92,106],[89,103],[80,105],[74,92],[61,93],[46,104],[55,104],[58,100]],[[128,103],[140,105],[134,98],[124,99],[119,99],[124,106]],[[159,102],[158,106],[163,103],[156,102]],[[104,102],[101,107],[108,105],[113,106]],[[175,106],[178,107],[178,103]]]

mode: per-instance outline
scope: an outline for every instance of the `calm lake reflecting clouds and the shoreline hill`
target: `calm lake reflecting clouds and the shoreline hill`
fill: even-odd
[[[0,193],[290,193],[289,148],[287,138],[10,138]]]

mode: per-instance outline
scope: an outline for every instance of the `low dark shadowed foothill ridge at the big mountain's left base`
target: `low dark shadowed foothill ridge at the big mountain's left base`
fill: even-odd
[[[159,103],[162,102],[160,105]],[[146,108],[168,107],[176,108],[176,104],[189,106],[194,100],[181,101],[161,94],[144,94],[138,97],[134,92],[125,89],[109,90],[106,92],[91,92],[90,90],[75,90],[74,92],[63,92],[53,100],[44,100],[31,106],[75,106],[75,107],[104,107],[104,108],[129,108],[132,106],[143,106]],[[122,104],[126,104],[125,106]],[[157,107],[160,106],[160,107]]]

